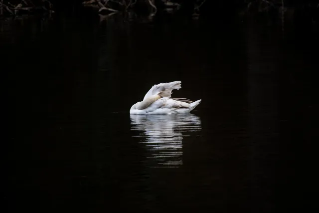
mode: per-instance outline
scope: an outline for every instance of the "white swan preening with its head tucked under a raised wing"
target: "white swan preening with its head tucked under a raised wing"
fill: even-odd
[[[186,98],[170,98],[173,89],[180,89],[180,81],[154,85],[146,93],[143,101],[130,109],[130,114],[175,114],[189,113],[201,100],[190,101]]]

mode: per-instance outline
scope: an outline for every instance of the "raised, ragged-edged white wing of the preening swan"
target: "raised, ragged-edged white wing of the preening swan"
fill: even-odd
[[[162,97],[167,97],[169,98],[171,96],[171,91],[173,89],[180,89],[181,81],[173,81],[170,83],[160,83],[158,85],[154,85],[149,91],[148,93],[146,93],[145,97],[143,100],[147,99],[148,97],[152,96],[152,95],[157,95],[159,94]]]

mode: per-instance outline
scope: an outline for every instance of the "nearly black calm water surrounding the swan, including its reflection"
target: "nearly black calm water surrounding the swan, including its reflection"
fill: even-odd
[[[8,212],[314,205],[319,66],[309,39],[189,20],[0,24]],[[152,85],[175,80],[173,97],[202,99],[192,114],[130,116]]]

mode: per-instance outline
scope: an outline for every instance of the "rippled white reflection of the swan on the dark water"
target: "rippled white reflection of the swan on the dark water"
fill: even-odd
[[[140,132],[133,137],[142,138],[157,167],[181,166],[183,136],[198,136],[201,130],[200,117],[193,114],[130,116],[131,130]]]

